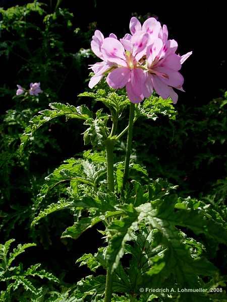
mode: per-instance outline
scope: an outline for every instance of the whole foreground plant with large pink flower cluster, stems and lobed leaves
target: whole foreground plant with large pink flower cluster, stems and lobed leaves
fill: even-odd
[[[78,301],[109,302],[116,294],[120,294],[119,301],[223,300],[225,293],[218,286],[224,285],[226,278],[219,275],[206,255],[209,241],[214,250],[218,244],[226,244],[227,229],[220,213],[199,200],[178,197],[177,186],[149,178],[145,167],[130,159],[133,125],[138,119],[155,120],[159,114],[176,118],[172,100],[176,103],[178,97],[174,89],[183,90],[179,70],[191,52],[176,54],[177,42],[167,39],[166,26],[161,28],[154,18],[141,26],[133,17],[130,30],[131,35],[120,41],[114,34],[104,38],[100,31],[95,31],[92,38],[91,48],[103,61],[91,66],[95,74],[89,87],[107,75],[109,88],[79,96],[102,102],[109,113],[99,109],[94,114],[84,105],[51,103],[50,109],[40,111],[25,129],[21,152],[34,131],[59,116],[83,120],[87,127],[84,143],[93,146],[82,158],[65,161],[45,178],[36,209],[59,183],[70,185],[68,196],[41,209],[32,226],[61,209],[71,209],[74,218],[62,238],[77,239],[95,224],[103,224],[104,230],[99,232],[104,246],[94,255],[84,254],[77,262],[93,272],[102,267],[106,276],[96,274],[80,280],[74,291]],[[118,90],[124,87],[127,96]],[[153,96],[153,90],[160,97]],[[120,129],[128,107],[129,124]],[[115,145],[126,132],[125,161],[114,162]],[[150,293],[140,288],[157,290]],[[174,290],[169,293],[160,288]]]

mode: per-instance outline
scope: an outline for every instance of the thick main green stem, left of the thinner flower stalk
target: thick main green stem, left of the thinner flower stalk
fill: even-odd
[[[106,146],[106,163],[107,163],[107,184],[108,190],[114,192],[114,178],[113,178],[113,144],[114,139],[107,138]],[[107,269],[105,282],[105,302],[110,302],[112,296],[112,273]]]

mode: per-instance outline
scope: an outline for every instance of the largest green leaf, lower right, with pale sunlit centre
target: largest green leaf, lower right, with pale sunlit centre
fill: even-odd
[[[175,187],[155,181],[150,186],[145,186],[145,190],[140,187],[137,202],[140,204],[141,201],[139,206],[135,207],[133,204],[116,206],[122,211],[122,218],[112,221],[108,226],[111,237],[106,251],[106,260],[110,271],[115,271],[120,265],[125,249],[130,251],[126,243],[137,242],[138,236],[135,232],[141,223],[149,225],[149,228],[157,233],[152,238],[155,244],[153,246],[150,244],[152,247],[150,254],[144,255],[143,250],[139,256],[138,251],[132,250],[133,257],[135,254],[134,262],[136,258],[145,259],[143,273],[135,270],[131,273],[132,279],[137,274],[134,286],[147,283],[152,284],[152,287],[158,287],[159,284],[165,284],[167,279],[171,278],[181,286],[197,288],[199,284],[196,276],[213,276],[217,271],[216,267],[203,256],[201,245],[189,242],[185,238],[186,235],[178,230],[178,226],[186,226],[197,234],[203,233],[207,238],[214,238],[220,243],[225,241],[226,244],[224,224],[221,220],[219,221],[215,212],[208,213],[207,208],[201,209],[201,203],[198,201],[190,203],[186,199],[187,206],[179,208],[180,202],[177,195],[170,193],[173,189]],[[178,205],[177,211],[175,205]],[[215,230],[221,234],[222,239],[221,236],[215,235]],[[136,267],[140,266],[136,265]]]

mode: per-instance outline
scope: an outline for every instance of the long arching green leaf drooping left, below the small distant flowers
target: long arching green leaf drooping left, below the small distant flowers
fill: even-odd
[[[50,103],[49,106],[51,110],[40,111],[40,115],[34,116],[29,121],[30,125],[25,128],[25,132],[21,136],[20,154],[22,154],[28,140],[32,140],[34,132],[53,118],[65,115],[66,119],[77,118],[86,120],[92,117],[92,112],[84,105],[75,107],[69,104]]]

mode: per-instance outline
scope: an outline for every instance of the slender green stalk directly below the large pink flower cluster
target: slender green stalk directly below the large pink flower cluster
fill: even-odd
[[[128,138],[127,138],[127,147],[126,147],[126,156],[125,156],[125,171],[124,171],[122,192],[125,189],[125,184],[129,176],[129,161],[130,161],[131,147],[132,147],[134,112],[135,112],[135,104],[131,103],[130,112],[129,112],[129,128],[128,128]]]

